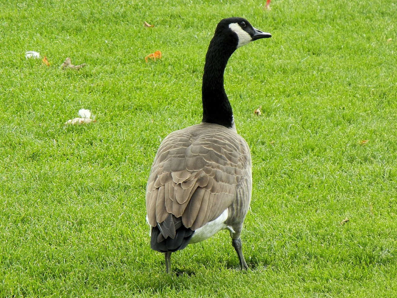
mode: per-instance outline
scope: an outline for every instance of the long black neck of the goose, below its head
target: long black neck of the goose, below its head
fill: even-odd
[[[224,72],[231,54],[236,49],[233,39],[214,36],[205,57],[202,76],[202,122],[231,128],[233,111],[224,89]]]

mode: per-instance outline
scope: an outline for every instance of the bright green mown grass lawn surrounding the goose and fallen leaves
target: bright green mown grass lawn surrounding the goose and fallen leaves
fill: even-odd
[[[397,296],[397,6],[264,4],[0,1],[1,297]],[[252,151],[251,270],[220,232],[174,253],[169,277],[146,180],[160,139],[200,122],[205,52],[229,16],[273,35],[225,71]],[[62,71],[66,57],[87,66]],[[80,108],[97,122],[65,126]]]

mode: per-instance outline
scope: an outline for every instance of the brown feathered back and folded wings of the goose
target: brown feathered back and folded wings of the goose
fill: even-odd
[[[169,134],[146,187],[149,224],[156,226],[172,213],[197,230],[216,219],[233,203],[247,163],[248,145],[235,130],[197,124]]]

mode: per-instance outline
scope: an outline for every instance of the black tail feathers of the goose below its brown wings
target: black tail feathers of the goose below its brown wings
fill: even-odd
[[[158,252],[183,250],[189,244],[194,231],[183,226],[180,217],[176,218],[172,215],[173,227],[170,227],[170,220],[166,219],[166,221],[167,223],[163,222],[152,227],[150,247]],[[175,232],[173,232],[174,228]],[[172,231],[171,233],[170,230]]]

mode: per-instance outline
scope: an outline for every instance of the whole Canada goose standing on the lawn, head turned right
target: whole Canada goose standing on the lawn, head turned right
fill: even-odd
[[[241,229],[251,201],[251,153],[237,134],[224,89],[227,60],[240,46],[266,37],[241,17],[222,19],[205,58],[202,122],[169,134],[160,144],[146,186],[150,247],[171,253],[205,240],[222,229],[230,232],[242,270]]]

